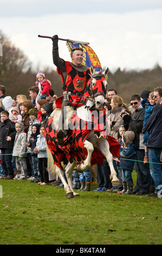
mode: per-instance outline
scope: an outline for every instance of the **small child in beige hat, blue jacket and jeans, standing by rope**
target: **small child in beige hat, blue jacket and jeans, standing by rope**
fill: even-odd
[[[133,131],[126,131],[122,135],[122,149],[120,151],[120,168],[122,169],[122,181],[123,187],[121,194],[132,194],[133,191],[133,179],[132,171],[134,168],[134,161],[136,155],[136,145],[133,143],[135,133]],[[131,161],[129,161],[129,160]]]

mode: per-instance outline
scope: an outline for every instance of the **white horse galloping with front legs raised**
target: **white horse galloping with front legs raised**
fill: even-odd
[[[90,79],[90,84],[87,85],[89,86],[90,93],[89,93],[89,96],[87,97],[86,108],[85,106],[77,107],[77,116],[83,120],[86,120],[86,121],[88,120],[93,122],[92,115],[89,112],[89,108],[95,105],[95,109],[100,111],[105,105],[105,92],[107,87],[107,81],[105,79],[105,76],[108,74],[108,68],[103,73],[94,72],[92,67],[90,68],[90,71],[92,74],[92,78]],[[99,81],[100,81],[100,84],[99,84]],[[73,111],[74,111],[73,107],[69,107],[69,112],[68,112],[69,119],[72,118]],[[60,115],[61,115],[61,109],[56,108],[51,116],[51,118],[53,118],[55,121],[56,129],[57,129]],[[46,132],[47,132],[46,136],[48,136],[48,131]],[[116,177],[116,172],[113,166],[113,155],[109,151],[109,143],[108,143],[107,137],[103,135],[99,137],[96,136],[93,129],[88,133],[89,133],[88,136],[83,142],[83,147],[87,150],[87,157],[85,160],[82,161],[82,163],[80,163],[77,169],[78,172],[84,172],[88,167],[90,167],[92,154],[95,149],[98,149],[101,152],[103,158],[105,157],[107,162],[109,163],[109,167],[111,169],[112,185],[114,186],[120,185],[120,182]],[[48,144],[48,141],[47,141],[47,144]],[[56,173],[60,177],[64,185],[64,190],[66,191],[67,198],[79,196],[79,193],[74,192],[73,185],[72,185],[72,173],[77,162],[74,160],[71,163],[68,162],[66,166],[63,165],[63,168],[59,168],[59,166],[56,166],[55,164],[53,164],[54,158],[49,148],[47,147],[48,169],[50,169],[51,173]],[[66,178],[68,182],[66,182],[66,179],[64,178],[64,172],[66,173]]]

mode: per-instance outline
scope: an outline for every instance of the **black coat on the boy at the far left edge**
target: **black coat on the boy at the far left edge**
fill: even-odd
[[[11,137],[11,141],[7,141],[7,136]],[[0,122],[0,149],[12,149],[14,148],[14,141],[16,136],[15,123],[10,119]]]

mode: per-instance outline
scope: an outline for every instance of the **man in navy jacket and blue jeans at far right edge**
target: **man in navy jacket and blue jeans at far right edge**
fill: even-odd
[[[142,132],[149,132],[147,141],[148,159],[150,164],[150,173],[155,185],[155,192],[149,197],[162,197],[162,163],[160,155],[162,150],[162,87],[154,89],[156,105],[153,107],[152,114],[147,119]]]

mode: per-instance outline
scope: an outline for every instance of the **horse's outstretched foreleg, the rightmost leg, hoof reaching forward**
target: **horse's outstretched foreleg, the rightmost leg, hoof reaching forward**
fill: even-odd
[[[113,155],[111,154],[111,152],[109,151],[109,144],[107,139],[101,137],[98,139],[98,149],[101,151],[101,153],[103,154],[103,156],[106,157],[107,162],[109,163],[109,168],[111,169],[111,176],[112,176],[112,185],[113,186],[119,186],[120,182],[119,179],[116,176],[116,172],[113,166]]]

